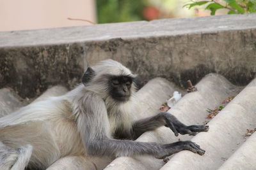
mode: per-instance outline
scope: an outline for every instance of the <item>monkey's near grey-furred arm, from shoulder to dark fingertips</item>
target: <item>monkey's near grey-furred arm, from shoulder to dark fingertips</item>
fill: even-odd
[[[84,148],[90,155],[154,155],[163,158],[180,150],[191,150],[204,154],[198,145],[191,141],[182,141],[167,145],[143,143],[129,140],[111,139],[109,135],[108,113],[104,101],[93,93],[81,94],[74,102],[74,114],[77,116],[77,129],[81,135]]]

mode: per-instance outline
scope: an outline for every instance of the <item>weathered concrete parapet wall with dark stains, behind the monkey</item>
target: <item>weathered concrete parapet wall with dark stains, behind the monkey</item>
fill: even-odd
[[[72,87],[86,62],[114,59],[141,75],[177,85],[220,73],[246,85],[256,73],[256,14],[0,32],[0,88],[33,97]]]

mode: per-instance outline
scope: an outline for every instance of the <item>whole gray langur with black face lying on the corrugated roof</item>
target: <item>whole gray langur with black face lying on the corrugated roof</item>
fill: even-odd
[[[29,104],[0,118],[0,169],[45,169],[68,155],[153,155],[181,150],[204,154],[191,141],[161,145],[132,141],[165,125],[175,136],[208,131],[184,125],[170,113],[134,121],[136,76],[114,60],[88,67],[83,83],[64,96]],[[122,140],[121,140],[122,139]]]

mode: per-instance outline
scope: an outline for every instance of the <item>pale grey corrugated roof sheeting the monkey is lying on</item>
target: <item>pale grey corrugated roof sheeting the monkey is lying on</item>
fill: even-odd
[[[97,169],[255,169],[256,136],[246,137],[246,129],[256,127],[256,79],[246,87],[237,87],[219,74],[208,74],[198,84],[196,92],[186,94],[163,78],[149,81],[138,91],[141,101],[138,118],[149,117],[159,112],[161,104],[169,99],[173,91],[182,91],[184,96],[169,110],[181,122],[187,125],[205,124],[208,132],[200,132],[196,136],[174,136],[167,127],[145,132],[137,141],[173,143],[179,140],[192,140],[206,152],[200,156],[192,152],[182,151],[163,160],[150,156],[118,157],[90,159]],[[63,87],[52,87],[36,99],[43,100],[48,96],[59,96],[67,92]],[[234,97],[223,110],[211,119],[207,119],[208,109],[218,108],[227,97]],[[24,106],[16,94],[9,89],[0,90],[0,113],[6,115]],[[70,159],[57,161],[49,169],[72,167]],[[76,161],[76,160],[75,160]],[[70,166],[68,166],[70,165]],[[77,168],[95,168],[93,165],[77,164]]]

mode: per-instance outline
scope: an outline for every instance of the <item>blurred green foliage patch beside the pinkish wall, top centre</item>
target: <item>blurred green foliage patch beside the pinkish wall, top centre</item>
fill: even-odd
[[[143,0],[97,0],[99,24],[143,20]]]

